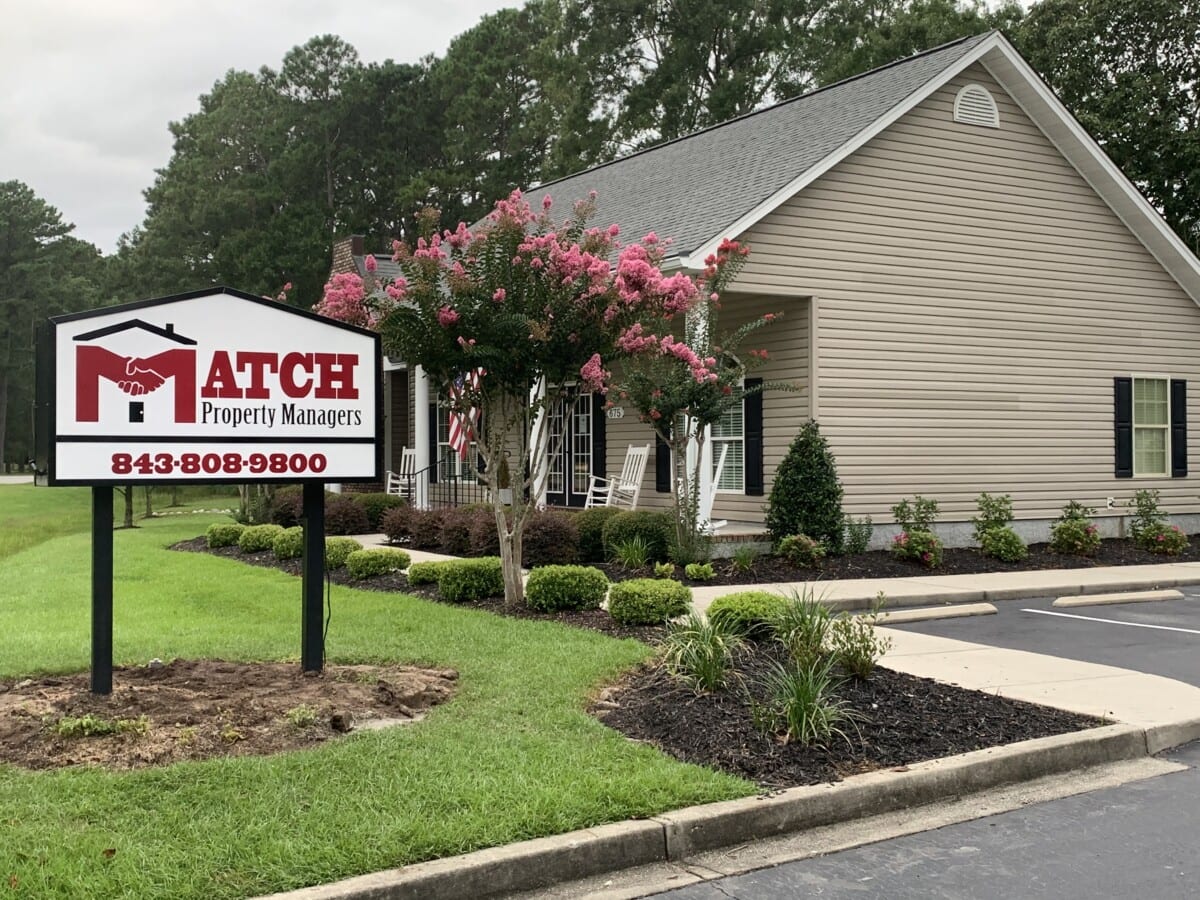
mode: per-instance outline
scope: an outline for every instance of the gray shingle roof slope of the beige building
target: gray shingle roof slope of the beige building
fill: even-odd
[[[595,191],[594,224],[616,222],[625,241],[672,238],[685,256],[869,128],[994,32],[838,82],[704,131],[529,190],[550,194],[560,220]]]

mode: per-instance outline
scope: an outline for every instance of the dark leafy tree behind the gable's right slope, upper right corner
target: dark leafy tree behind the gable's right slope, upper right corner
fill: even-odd
[[[1200,2],[1043,0],[1016,43],[1200,253]]]

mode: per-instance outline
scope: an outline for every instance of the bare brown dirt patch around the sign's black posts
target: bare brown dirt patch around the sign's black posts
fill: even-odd
[[[0,761],[30,769],[137,769],[311,748],[401,725],[445,702],[457,673],[410,666],[175,660],[118,667],[113,692],[88,674],[0,680]],[[101,733],[110,732],[110,733]]]

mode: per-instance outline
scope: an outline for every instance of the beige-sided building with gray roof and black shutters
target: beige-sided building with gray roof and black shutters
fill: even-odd
[[[672,236],[676,268],[700,271],[722,238],[750,245],[722,328],[784,313],[755,335],[770,356],[755,374],[803,390],[749,400],[713,436],[714,518],[763,520],[812,418],[846,511],[877,526],[922,494],[961,541],[988,491],[1012,494],[1031,539],[1068,500],[1116,533],[1142,488],[1200,526],[1200,263],[998,32],[530,193],[559,210],[593,190],[599,223]],[[414,407],[397,406],[394,440],[410,443]],[[582,396],[560,418],[550,503],[581,504],[587,475],[652,439],[612,415]],[[670,502],[662,450],[642,506]]]

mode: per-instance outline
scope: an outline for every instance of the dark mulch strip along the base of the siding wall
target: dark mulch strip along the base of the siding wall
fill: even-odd
[[[836,581],[840,578],[904,578],[920,575],[978,575],[982,572],[1020,572],[1037,569],[1091,569],[1099,565],[1154,565],[1158,563],[1200,562],[1200,540],[1178,556],[1151,553],[1134,546],[1127,538],[1110,538],[1100,541],[1093,557],[1076,557],[1055,553],[1048,544],[1031,544],[1030,556],[1020,563],[1004,563],[984,556],[972,547],[949,548],[942,565],[926,569],[911,559],[898,559],[889,551],[872,550],[854,556],[829,557],[815,569],[788,565],[779,557],[761,556],[749,571],[738,570],[728,559],[713,563],[716,577],[709,581],[691,581],[683,566],[676,566],[676,577],[685,584],[770,584],[788,581]],[[599,566],[611,581],[648,577],[650,569],[625,569],[616,564]]]

